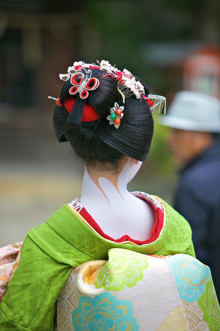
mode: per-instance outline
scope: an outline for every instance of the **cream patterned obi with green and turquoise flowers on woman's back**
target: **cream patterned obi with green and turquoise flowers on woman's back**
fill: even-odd
[[[57,330],[220,330],[209,268],[195,258],[113,248],[109,260],[69,274],[57,300]]]

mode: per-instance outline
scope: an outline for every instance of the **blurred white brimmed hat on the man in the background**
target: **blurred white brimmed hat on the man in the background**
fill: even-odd
[[[160,123],[176,129],[220,132],[220,100],[207,94],[178,92]]]

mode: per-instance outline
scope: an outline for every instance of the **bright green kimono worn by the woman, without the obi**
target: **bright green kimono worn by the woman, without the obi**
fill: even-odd
[[[45,223],[31,229],[0,303],[0,330],[54,331],[57,298],[71,270],[88,261],[108,260],[110,249],[195,257],[188,222],[162,203],[164,226],[160,236],[141,246],[102,238],[70,205],[62,206]]]

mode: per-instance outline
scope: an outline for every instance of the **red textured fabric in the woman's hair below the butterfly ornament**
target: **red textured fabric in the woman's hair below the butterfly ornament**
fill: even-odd
[[[67,97],[64,100],[63,104],[68,113],[71,113],[75,101],[76,101],[76,99],[71,96]],[[81,122],[92,122],[98,118],[100,118],[100,116],[98,114],[96,114],[94,107],[89,106],[85,103],[85,105],[83,107],[83,114],[82,114]]]

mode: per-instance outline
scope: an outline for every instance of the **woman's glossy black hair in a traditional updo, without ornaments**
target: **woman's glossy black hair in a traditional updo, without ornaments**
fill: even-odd
[[[70,80],[67,80],[60,92],[60,102],[62,107],[55,106],[53,114],[53,125],[56,138],[60,141],[69,141],[74,153],[82,159],[86,166],[101,164],[110,168],[117,168],[120,160],[129,156],[138,161],[144,161],[149,153],[151,140],[153,137],[154,123],[150,108],[147,102],[136,99],[135,95],[125,98],[123,104],[122,96],[118,92],[117,81],[98,69],[92,69],[92,77],[98,78],[99,86],[95,90],[89,91],[89,96],[82,100],[77,95],[75,104],[85,102],[92,105],[96,113],[100,116],[95,123],[84,122],[81,124],[71,124],[68,122],[70,114],[65,109],[63,103],[69,97],[69,89],[72,87]],[[137,80],[141,81],[139,78]],[[146,84],[141,81],[147,96],[149,90]],[[114,124],[109,125],[107,116],[110,115],[110,108],[117,102],[119,106],[124,106],[124,116],[118,129]],[[74,116],[74,109],[71,116]],[[78,116],[76,114],[76,116]]]

